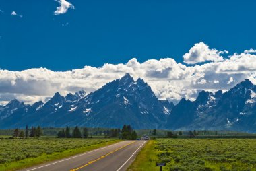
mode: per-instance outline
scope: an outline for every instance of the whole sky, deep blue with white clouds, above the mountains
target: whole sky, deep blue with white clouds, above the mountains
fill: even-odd
[[[131,73],[195,100],[256,77],[256,1],[2,0],[0,104],[92,92]]]

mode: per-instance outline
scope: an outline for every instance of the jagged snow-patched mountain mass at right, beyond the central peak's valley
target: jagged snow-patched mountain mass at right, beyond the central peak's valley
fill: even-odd
[[[256,131],[256,86],[246,79],[222,94],[202,91],[195,102],[181,100],[174,106],[169,129],[231,129]]]

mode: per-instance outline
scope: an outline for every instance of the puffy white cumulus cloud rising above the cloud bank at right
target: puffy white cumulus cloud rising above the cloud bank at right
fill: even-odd
[[[209,46],[203,42],[199,42],[189,50],[189,53],[183,55],[183,59],[184,62],[188,64],[202,63],[205,61],[218,62],[224,60],[223,57],[220,56],[222,53],[228,53],[228,51],[210,49]]]

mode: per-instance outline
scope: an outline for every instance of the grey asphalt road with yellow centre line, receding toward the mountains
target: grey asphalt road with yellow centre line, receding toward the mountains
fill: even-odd
[[[26,168],[21,171],[123,171],[135,159],[147,141],[121,141],[99,149],[94,149],[62,160]]]

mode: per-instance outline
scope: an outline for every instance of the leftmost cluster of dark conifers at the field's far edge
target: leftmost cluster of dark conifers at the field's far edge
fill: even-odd
[[[16,128],[13,132],[13,137],[17,138],[28,138],[28,137],[41,137],[43,135],[42,129],[40,126],[38,127],[31,127],[31,129],[28,129],[28,125],[26,125],[25,132],[23,129]]]

